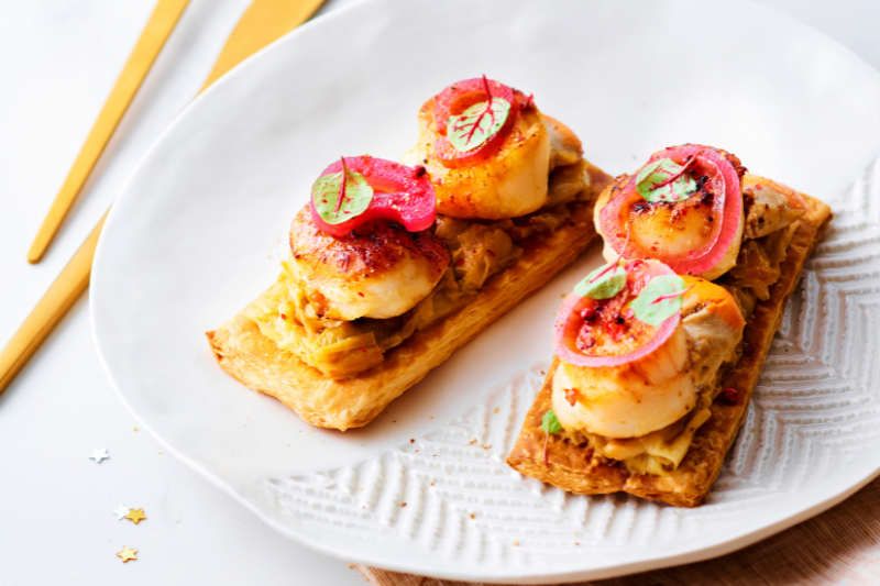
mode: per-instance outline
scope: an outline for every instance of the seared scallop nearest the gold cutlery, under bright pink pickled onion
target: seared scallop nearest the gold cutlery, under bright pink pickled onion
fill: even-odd
[[[292,270],[324,318],[394,318],[413,309],[449,266],[446,245],[428,231],[371,220],[344,236],[318,229],[309,206],[290,225]]]

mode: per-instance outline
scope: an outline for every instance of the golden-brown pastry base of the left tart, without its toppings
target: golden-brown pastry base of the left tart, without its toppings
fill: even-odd
[[[612,177],[592,165],[588,170],[591,192],[600,194]],[[312,425],[360,428],[586,250],[596,235],[594,202],[595,197],[571,203],[565,225],[522,242],[522,257],[490,277],[468,306],[417,332],[386,352],[382,363],[353,378],[324,377],[290,352],[278,350],[242,313],[206,335],[220,366],[248,387],[276,397]]]

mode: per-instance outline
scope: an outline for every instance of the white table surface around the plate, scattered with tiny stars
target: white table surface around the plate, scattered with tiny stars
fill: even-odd
[[[330,0],[322,12],[352,0]],[[646,0],[650,1],[650,0]],[[880,68],[877,0],[760,0]],[[0,1],[0,345],[148,145],[198,91],[250,0],[191,0],[46,258],[25,253],[155,0]],[[610,169],[613,173],[620,169]],[[0,396],[0,583],[363,585],[173,456],[117,398],[88,298]],[[96,464],[92,449],[110,460]],[[118,521],[119,506],[146,521]],[[138,549],[122,564],[116,552]]]

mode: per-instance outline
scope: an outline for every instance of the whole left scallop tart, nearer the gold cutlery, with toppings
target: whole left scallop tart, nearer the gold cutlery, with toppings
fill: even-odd
[[[277,281],[207,334],[223,369],[315,425],[369,423],[595,236],[612,177],[532,97],[464,80],[419,122],[409,165],[324,169]]]

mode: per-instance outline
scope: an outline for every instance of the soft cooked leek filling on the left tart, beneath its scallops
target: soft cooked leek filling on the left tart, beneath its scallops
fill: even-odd
[[[402,316],[354,321],[321,318],[288,262],[282,263],[278,280],[245,309],[244,316],[280,350],[293,352],[326,376],[354,376],[381,363],[386,351],[417,331],[465,306],[486,279],[522,256],[517,243],[564,224],[571,217],[568,203],[588,196],[588,170],[584,161],[554,169],[548,206],[522,218],[481,222],[438,215],[436,235],[452,253],[450,267],[428,297]]]

